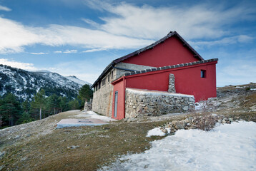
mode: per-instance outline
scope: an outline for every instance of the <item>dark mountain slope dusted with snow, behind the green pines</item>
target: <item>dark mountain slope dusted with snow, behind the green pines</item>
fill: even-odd
[[[31,99],[40,89],[44,88],[46,95],[55,93],[69,98],[77,97],[82,85],[58,73],[49,71],[24,71],[10,66],[0,65],[0,95],[14,93],[24,100]]]

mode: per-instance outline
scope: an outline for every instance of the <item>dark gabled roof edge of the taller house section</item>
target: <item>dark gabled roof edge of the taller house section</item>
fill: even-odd
[[[159,43],[164,42],[167,38],[170,38],[172,36],[176,36],[180,41],[182,41],[183,46],[186,46],[190,51],[192,51],[192,53],[194,53],[194,57],[197,58],[199,61],[203,61],[204,59],[200,56],[199,53],[197,53],[197,51],[195,51],[194,48],[192,48],[189,43],[187,43],[187,41],[184,41],[184,39],[182,38],[182,36],[179,36],[179,34],[176,31],[170,31],[167,36],[164,36],[163,38],[159,39],[159,41],[156,41],[154,43],[152,43],[149,46],[146,46],[144,48],[141,48],[137,51],[134,51],[132,53],[129,53],[126,56],[122,56],[121,58],[117,58],[114,61],[112,61],[111,63],[109,63],[109,65],[104,69],[104,71],[102,72],[102,74],[99,76],[99,78],[97,78],[97,80],[92,84],[92,87],[102,78],[104,77],[104,75],[112,68],[112,66],[114,66],[115,64],[124,61],[127,58],[131,58],[132,56],[136,56],[139,53],[142,53],[143,51],[147,51],[149,49],[154,48],[154,46],[157,46]]]

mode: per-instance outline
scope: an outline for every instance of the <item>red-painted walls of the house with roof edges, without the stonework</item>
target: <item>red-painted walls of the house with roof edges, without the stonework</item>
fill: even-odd
[[[141,71],[126,68],[122,76],[112,81],[112,118],[125,118],[126,88],[167,92],[170,73],[175,77],[176,93],[194,95],[196,101],[216,97],[217,58],[204,60],[176,31],[111,64],[115,66],[117,63],[149,68]],[[107,68],[104,71],[108,73]]]

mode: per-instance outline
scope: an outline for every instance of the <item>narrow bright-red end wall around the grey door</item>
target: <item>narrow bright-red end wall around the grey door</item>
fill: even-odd
[[[113,103],[112,103],[112,118],[114,118],[114,93],[118,91],[118,100],[117,100],[117,118],[114,119],[122,119],[125,117],[124,115],[124,100],[125,100],[125,90],[124,90],[125,80],[121,78],[119,81],[115,82],[114,91],[113,91]]]

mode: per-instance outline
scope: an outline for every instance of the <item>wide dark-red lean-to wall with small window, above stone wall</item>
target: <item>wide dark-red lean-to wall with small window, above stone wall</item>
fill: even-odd
[[[177,93],[194,95],[196,101],[207,100],[216,97],[216,63],[217,61],[127,76],[126,87],[167,91],[169,73],[173,73]],[[201,70],[206,71],[206,78],[201,78]]]

